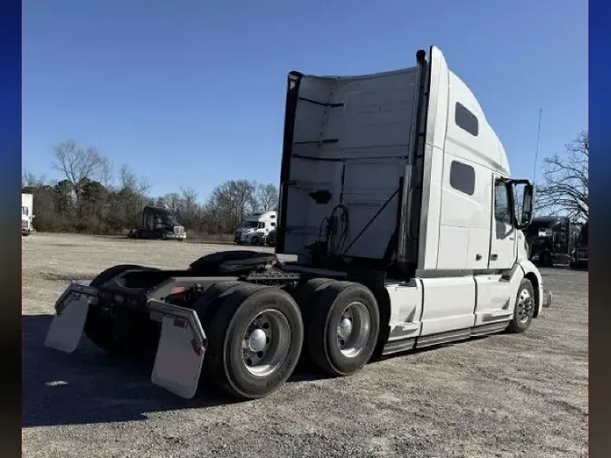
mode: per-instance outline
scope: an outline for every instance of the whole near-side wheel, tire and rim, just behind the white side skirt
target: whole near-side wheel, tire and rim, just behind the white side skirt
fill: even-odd
[[[331,376],[354,374],[373,355],[379,324],[376,298],[366,286],[335,281],[312,303],[306,330],[310,356]]]

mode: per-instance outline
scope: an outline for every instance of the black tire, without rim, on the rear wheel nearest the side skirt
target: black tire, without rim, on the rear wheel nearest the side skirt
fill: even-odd
[[[371,331],[368,342],[360,353],[354,358],[348,358],[337,346],[336,327],[342,312],[353,301],[366,305]],[[306,335],[308,350],[314,363],[334,377],[345,377],[364,367],[376,349],[380,328],[379,309],[373,293],[360,283],[334,281],[317,294],[311,308]]]

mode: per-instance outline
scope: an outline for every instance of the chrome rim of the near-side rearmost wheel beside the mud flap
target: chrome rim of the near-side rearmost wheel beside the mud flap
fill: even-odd
[[[290,347],[289,320],[280,310],[263,310],[243,334],[243,365],[253,376],[267,377],[280,367]]]

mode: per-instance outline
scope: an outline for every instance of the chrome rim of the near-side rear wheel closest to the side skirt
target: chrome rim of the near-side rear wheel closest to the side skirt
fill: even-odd
[[[336,342],[346,358],[356,358],[371,335],[371,314],[363,302],[352,302],[342,311],[336,326]]]

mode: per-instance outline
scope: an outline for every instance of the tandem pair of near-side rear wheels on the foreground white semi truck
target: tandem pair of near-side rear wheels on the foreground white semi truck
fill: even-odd
[[[348,376],[376,347],[377,302],[358,283],[317,279],[295,297],[248,283],[213,288],[194,304],[208,338],[203,378],[241,399],[275,391],[302,356],[331,376]]]

